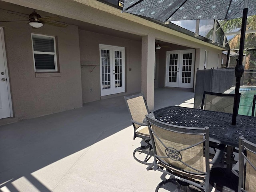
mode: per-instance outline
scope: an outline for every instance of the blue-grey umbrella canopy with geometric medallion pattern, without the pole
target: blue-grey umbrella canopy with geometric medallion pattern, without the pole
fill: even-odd
[[[161,22],[174,20],[231,20],[243,16],[244,0],[125,0],[123,12]],[[248,0],[248,16],[256,14],[256,0]]]

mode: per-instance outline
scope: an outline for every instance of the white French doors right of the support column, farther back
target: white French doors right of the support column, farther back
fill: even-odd
[[[195,50],[166,52],[167,87],[193,88]]]

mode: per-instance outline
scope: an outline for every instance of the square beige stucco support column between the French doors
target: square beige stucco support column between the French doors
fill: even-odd
[[[154,110],[155,41],[151,34],[142,37],[141,91],[150,111]]]

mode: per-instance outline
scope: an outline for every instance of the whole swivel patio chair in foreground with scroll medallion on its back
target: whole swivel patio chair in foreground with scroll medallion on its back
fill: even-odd
[[[210,161],[209,128],[184,127],[166,124],[146,116],[154,152],[154,162],[147,170],[154,169],[170,175],[156,187],[171,182],[175,190],[209,191],[209,177],[212,165],[219,162],[223,150]]]

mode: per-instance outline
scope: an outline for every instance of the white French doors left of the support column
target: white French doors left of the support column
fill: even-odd
[[[124,47],[100,45],[101,96],[124,92],[124,79]]]

